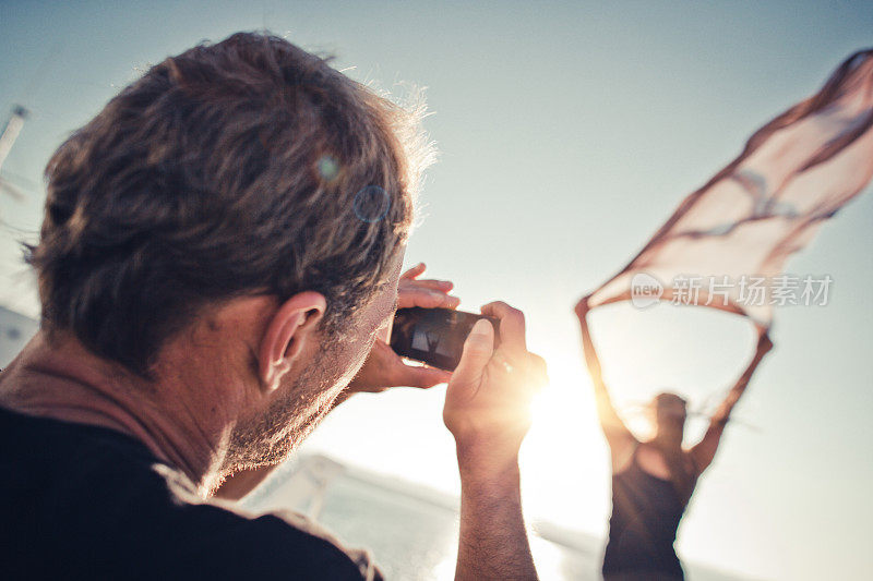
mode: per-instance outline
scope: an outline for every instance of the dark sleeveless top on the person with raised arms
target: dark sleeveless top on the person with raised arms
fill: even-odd
[[[638,449],[638,448],[637,448]],[[682,580],[673,542],[685,511],[672,482],[630,465],[612,475],[612,516],[603,555],[606,580]]]

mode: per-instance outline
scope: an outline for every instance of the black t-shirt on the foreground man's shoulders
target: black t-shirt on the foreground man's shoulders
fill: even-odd
[[[118,432],[0,409],[0,579],[381,579],[295,519],[202,503]]]

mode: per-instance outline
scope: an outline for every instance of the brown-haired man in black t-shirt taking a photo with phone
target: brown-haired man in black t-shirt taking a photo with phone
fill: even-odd
[[[483,313],[453,374],[384,342],[429,160],[418,120],[289,43],[237,34],[153,66],[55,154],[41,329],[0,374],[4,577],[378,579],[244,495],[357,391],[449,382],[459,579],[530,579],[517,453],[545,376]],[[224,497],[224,498],[223,498]]]

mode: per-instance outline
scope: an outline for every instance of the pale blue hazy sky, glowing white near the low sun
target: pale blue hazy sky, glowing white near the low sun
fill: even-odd
[[[754,129],[873,45],[873,4],[7,1],[0,108],[24,99],[33,117],[4,172],[39,182],[64,135],[137,70],[200,39],[264,26],[337,55],[356,78],[428,87],[435,114],[426,125],[442,154],[407,262],[452,278],[468,310],[499,298],[527,313],[529,344],[549,361],[553,382],[525,449],[526,506],[602,534],[606,449],[572,305],[623,266]],[[35,231],[40,211],[38,194],[24,204],[0,198],[0,216],[14,228]],[[683,556],[773,579],[873,574],[872,220],[868,191],[789,264],[801,275],[829,274],[832,302],[777,312],[777,349],[738,411],[755,428],[729,428],[683,524]],[[7,232],[1,241],[0,295],[33,314],[11,240]],[[646,316],[599,317],[608,368],[627,379],[615,385],[620,398],[666,380],[701,399],[746,354],[739,320]],[[654,341],[656,330],[672,342]],[[619,341],[635,347],[619,352]],[[669,363],[634,367],[653,353]],[[674,371],[683,365],[693,370]],[[454,489],[441,398],[442,388],[352,400],[310,446]]]

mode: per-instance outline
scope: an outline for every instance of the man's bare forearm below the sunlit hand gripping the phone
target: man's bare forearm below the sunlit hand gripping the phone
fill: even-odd
[[[483,467],[464,458],[456,580],[537,579],[522,515],[517,459]]]

